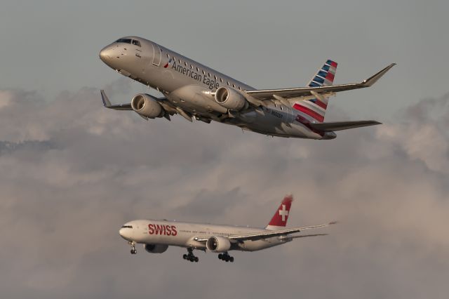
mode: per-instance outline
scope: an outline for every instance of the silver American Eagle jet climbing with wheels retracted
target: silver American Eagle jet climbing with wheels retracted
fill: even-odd
[[[324,122],[328,99],[339,91],[372,86],[391,67],[356,84],[332,85],[337,62],[327,60],[307,87],[257,90],[201,65],[153,41],[128,36],[100,51],[100,59],[123,76],[163,93],[139,93],[130,103],[112,105],[102,91],[103,105],[133,110],[144,119],[180,114],[206,123],[218,121],[266,135],[333,139],[334,131],[373,126],[377,121]]]

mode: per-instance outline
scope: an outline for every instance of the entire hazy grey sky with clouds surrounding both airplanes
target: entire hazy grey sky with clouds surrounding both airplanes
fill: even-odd
[[[3,1],[2,298],[447,298],[447,1]],[[328,141],[267,138],[182,117],[104,109],[147,91],[98,59],[138,35],[256,88],[335,83],[398,63],[331,99],[326,119],[385,124]],[[340,220],[222,263],[181,248],[130,255],[136,218],[264,226]]]

